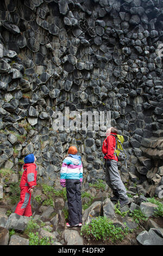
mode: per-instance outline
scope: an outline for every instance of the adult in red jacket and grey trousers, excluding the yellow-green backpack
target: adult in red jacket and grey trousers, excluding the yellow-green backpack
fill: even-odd
[[[129,203],[128,196],[126,194],[126,188],[123,185],[121,176],[118,172],[118,158],[115,154],[116,138],[118,131],[115,127],[110,127],[106,131],[106,139],[108,143],[107,154],[104,156],[106,161],[105,179],[106,184],[112,189],[114,197],[111,200],[120,200],[120,206]]]

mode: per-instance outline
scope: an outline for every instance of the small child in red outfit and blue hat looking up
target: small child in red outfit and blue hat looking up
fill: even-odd
[[[16,206],[15,214],[28,217],[32,216],[31,193],[33,192],[33,188],[37,185],[37,170],[35,161],[36,157],[34,154],[29,154],[24,157],[24,172],[20,182],[20,202],[18,202]]]

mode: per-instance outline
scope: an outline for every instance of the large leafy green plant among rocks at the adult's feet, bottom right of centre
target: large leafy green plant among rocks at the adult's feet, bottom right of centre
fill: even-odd
[[[87,240],[108,241],[110,239],[115,242],[122,241],[129,231],[127,227],[124,229],[115,227],[107,217],[97,217],[92,219],[91,223],[83,225],[80,234]]]

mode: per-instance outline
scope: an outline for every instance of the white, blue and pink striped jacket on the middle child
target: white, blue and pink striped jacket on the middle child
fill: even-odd
[[[68,155],[62,162],[60,170],[60,184],[66,186],[66,179],[83,181],[83,164],[78,155]]]

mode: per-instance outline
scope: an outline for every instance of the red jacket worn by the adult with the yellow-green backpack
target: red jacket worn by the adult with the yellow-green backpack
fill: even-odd
[[[115,138],[115,136],[112,136],[112,135],[116,135],[116,133],[112,132],[107,137],[108,153],[104,156],[104,159],[111,159],[111,160],[118,161],[118,157],[116,155],[114,155],[114,151],[115,151],[115,147],[116,147],[116,138]]]

